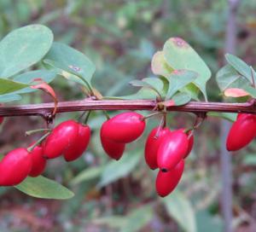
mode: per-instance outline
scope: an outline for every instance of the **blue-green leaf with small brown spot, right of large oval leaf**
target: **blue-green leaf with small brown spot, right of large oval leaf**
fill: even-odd
[[[88,84],[96,71],[95,65],[86,55],[66,44],[56,42],[45,56],[45,62],[67,73],[84,78]]]

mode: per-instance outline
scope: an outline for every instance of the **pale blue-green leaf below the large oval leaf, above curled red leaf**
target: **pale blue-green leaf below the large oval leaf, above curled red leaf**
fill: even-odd
[[[25,84],[36,84],[36,82],[33,82],[33,79],[35,78],[41,78],[44,82],[50,83],[53,81],[53,79],[56,77],[57,73],[53,70],[35,70],[35,71],[30,71],[27,73],[22,73],[20,75],[17,75],[13,78],[15,81],[20,81]],[[25,94],[25,93],[30,93],[37,91],[38,89],[32,89],[32,88],[25,88],[22,90],[15,91],[15,94]]]

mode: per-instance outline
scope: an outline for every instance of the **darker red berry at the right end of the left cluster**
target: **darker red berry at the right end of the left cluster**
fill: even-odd
[[[72,145],[64,152],[64,159],[67,162],[78,159],[87,148],[90,142],[90,127],[79,124],[79,135]]]

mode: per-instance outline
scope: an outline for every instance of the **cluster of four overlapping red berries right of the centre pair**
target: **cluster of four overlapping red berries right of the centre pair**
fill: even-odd
[[[189,155],[194,136],[183,129],[170,131],[154,128],[148,135],[145,160],[151,169],[159,168],[155,188],[161,197],[171,194],[179,183],[184,169],[184,159]]]

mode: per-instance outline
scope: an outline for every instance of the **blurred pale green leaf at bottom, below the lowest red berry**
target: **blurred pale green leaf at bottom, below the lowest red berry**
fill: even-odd
[[[166,206],[168,214],[176,220],[184,231],[197,231],[195,212],[188,198],[184,194],[176,190],[162,200]]]

